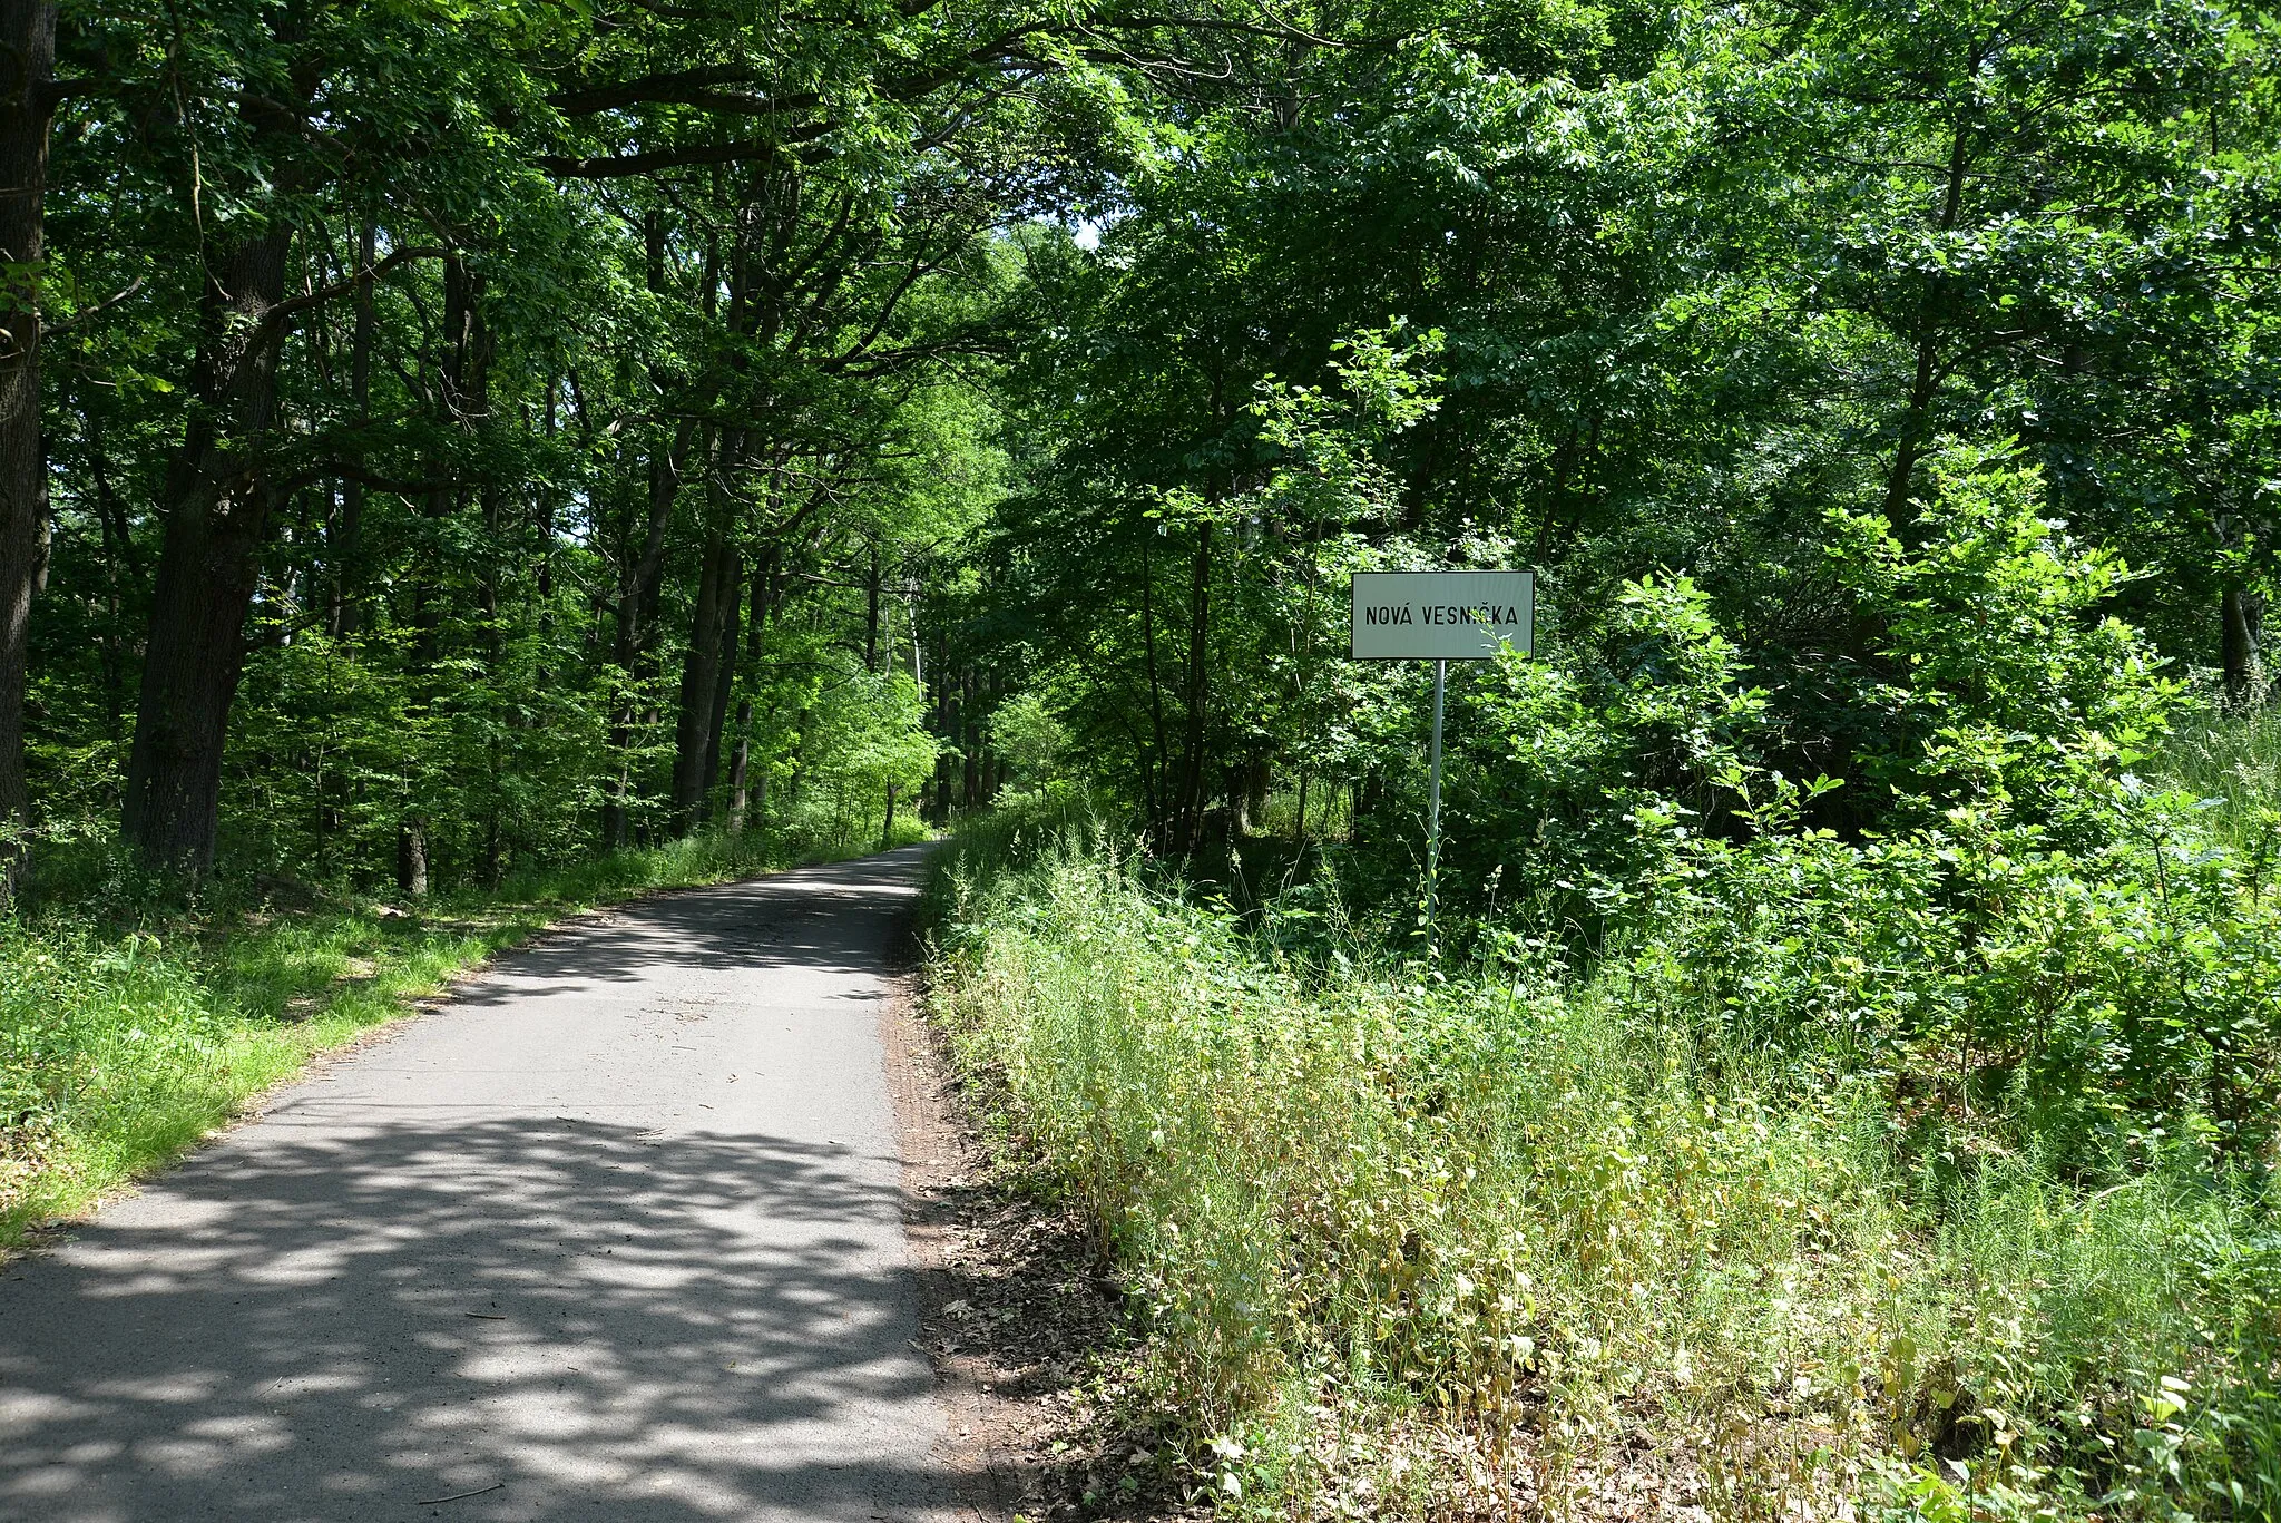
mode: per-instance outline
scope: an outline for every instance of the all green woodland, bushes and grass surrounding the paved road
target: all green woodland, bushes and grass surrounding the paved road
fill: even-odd
[[[554,909],[951,833],[1166,1434],[1079,1512],[2281,1516],[2274,9],[0,57],[9,1233]],[[1432,927],[1396,569],[1537,578]]]

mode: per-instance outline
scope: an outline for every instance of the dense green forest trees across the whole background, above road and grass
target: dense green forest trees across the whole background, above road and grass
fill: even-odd
[[[1423,678],[1341,660],[1366,566],[1542,578],[1556,660],[1458,680],[1476,884],[1606,865],[1626,788],[1736,829],[1734,744],[1841,831],[1971,769],[2051,813],[2067,724],[2263,701],[2276,43],[2185,0],[11,7],[11,861],[411,893],[1058,749],[1163,849],[1280,799],[1391,893]],[[1594,715],[1560,756],[1547,706]]]

